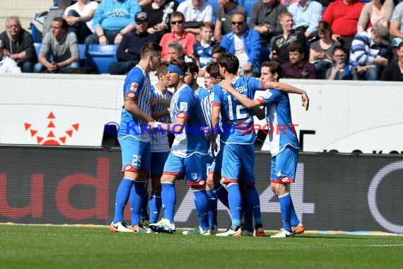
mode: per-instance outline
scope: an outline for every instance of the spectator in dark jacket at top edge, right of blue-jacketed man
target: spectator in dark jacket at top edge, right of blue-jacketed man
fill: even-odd
[[[264,47],[271,47],[271,38],[283,33],[283,28],[281,28],[277,18],[286,11],[286,6],[277,0],[260,0],[253,5],[249,27],[259,32]]]

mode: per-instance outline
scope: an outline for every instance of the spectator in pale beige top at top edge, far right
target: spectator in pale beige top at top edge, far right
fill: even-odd
[[[357,33],[378,24],[387,27],[393,8],[395,8],[393,0],[372,0],[367,3],[358,18]]]

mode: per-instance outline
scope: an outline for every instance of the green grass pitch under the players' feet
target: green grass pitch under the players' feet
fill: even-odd
[[[403,268],[403,236],[222,238],[0,225],[0,268]]]

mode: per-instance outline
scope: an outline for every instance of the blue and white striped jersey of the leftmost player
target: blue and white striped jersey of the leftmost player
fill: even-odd
[[[123,98],[132,98],[139,108],[151,116],[151,84],[148,74],[139,65],[134,67],[124,80]],[[134,138],[142,142],[150,142],[150,132],[146,129],[148,122],[134,117],[122,108],[118,139]]]

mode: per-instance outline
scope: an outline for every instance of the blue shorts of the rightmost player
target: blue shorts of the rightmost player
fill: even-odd
[[[271,156],[270,180],[275,183],[293,183],[296,178],[299,149],[286,146]]]

